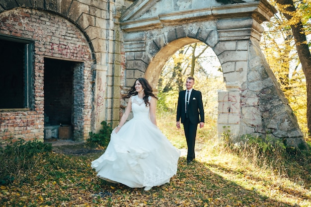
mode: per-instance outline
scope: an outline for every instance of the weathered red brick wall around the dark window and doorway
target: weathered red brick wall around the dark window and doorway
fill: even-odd
[[[0,13],[0,35],[27,38],[34,44],[33,110],[0,110],[0,139],[44,138],[44,58],[78,61],[74,71],[74,121],[77,139],[85,139],[91,117],[91,53],[78,27],[43,10],[17,8]],[[78,95],[77,95],[78,94]],[[2,100],[3,101],[3,100]]]

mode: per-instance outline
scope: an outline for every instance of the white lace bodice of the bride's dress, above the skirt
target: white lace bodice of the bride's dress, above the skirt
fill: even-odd
[[[151,100],[151,96],[148,97],[149,101]],[[146,106],[144,99],[139,98],[138,95],[131,97],[132,101],[132,111],[133,111],[133,119],[136,120],[149,120],[149,111],[150,107]]]

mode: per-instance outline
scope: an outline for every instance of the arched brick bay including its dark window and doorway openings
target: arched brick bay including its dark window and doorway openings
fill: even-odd
[[[19,60],[12,65],[2,59],[8,68],[5,75],[15,74],[21,80],[18,105],[0,109],[1,117],[11,117],[0,123],[0,129],[6,129],[12,138],[44,140],[59,138],[58,128],[67,125],[71,130],[64,139],[86,139],[93,96],[85,90],[91,88],[93,64],[87,37],[55,12],[16,8],[1,12],[0,18],[2,52],[7,50]],[[4,134],[3,139],[8,136]]]

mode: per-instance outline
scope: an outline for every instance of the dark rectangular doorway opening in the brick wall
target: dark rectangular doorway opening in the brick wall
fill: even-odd
[[[46,139],[72,138],[73,85],[76,64],[76,62],[65,60],[44,59],[44,129]]]

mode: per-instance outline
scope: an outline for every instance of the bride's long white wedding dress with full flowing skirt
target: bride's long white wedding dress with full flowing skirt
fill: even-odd
[[[99,178],[131,188],[169,183],[177,172],[180,151],[151,122],[144,100],[135,95],[130,101],[133,119],[117,134],[111,133],[107,149],[91,167]]]

